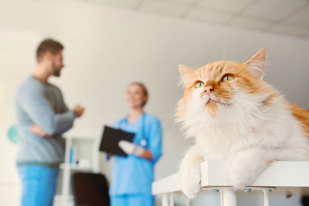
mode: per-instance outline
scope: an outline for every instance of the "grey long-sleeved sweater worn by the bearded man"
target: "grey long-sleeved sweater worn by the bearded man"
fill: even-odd
[[[61,91],[30,76],[19,86],[16,95],[19,151],[17,165],[58,167],[64,160],[61,134],[73,127],[76,117],[63,101]],[[37,124],[51,138],[39,137],[29,131]]]

